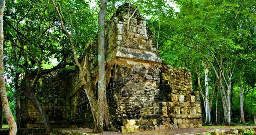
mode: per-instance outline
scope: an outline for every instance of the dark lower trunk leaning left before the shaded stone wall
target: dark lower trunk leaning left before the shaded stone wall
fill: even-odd
[[[27,88],[27,90],[24,93],[25,93],[25,96],[31,101],[31,103],[33,103],[35,108],[38,109],[38,111],[44,121],[46,133],[47,133],[47,135],[49,135],[52,132],[52,128],[51,128],[50,122],[48,120],[48,117],[47,117],[45,111],[43,110],[40,102],[37,100],[35,94],[33,92],[31,92],[29,88]]]

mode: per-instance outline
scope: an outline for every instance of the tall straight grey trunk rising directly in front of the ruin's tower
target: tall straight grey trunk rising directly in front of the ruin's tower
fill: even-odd
[[[107,0],[102,0],[98,16],[98,118],[97,132],[103,132],[103,121],[106,105],[106,80],[105,80],[105,15]],[[107,126],[107,125],[106,125]]]

